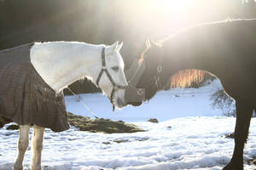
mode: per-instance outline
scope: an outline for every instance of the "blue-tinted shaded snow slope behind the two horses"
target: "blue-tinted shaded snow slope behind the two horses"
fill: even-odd
[[[221,116],[222,111],[212,108],[211,94],[221,88],[218,80],[203,88],[175,88],[160,91],[148,104],[139,107],[127,106],[121,110],[112,111],[108,98],[103,94],[80,94],[80,99],[95,112],[96,116],[122,120],[125,122],[148,121],[157,118],[160,122],[184,116]],[[67,111],[78,115],[90,116],[81,103],[73,96],[67,96]]]

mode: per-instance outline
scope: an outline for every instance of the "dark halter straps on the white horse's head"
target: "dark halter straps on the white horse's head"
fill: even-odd
[[[117,89],[125,89],[126,86],[119,86],[119,85],[117,85],[117,84],[113,81],[113,78],[110,76],[109,71],[108,71],[108,69],[107,69],[107,67],[106,67],[106,59],[105,59],[105,58],[106,58],[106,56],[105,56],[105,48],[102,48],[102,70],[101,70],[99,76],[97,77],[96,85],[97,85],[98,87],[100,87],[100,86],[99,86],[99,82],[100,82],[100,80],[101,80],[101,78],[102,78],[103,72],[105,72],[106,75],[108,76],[108,80],[112,83],[112,86],[113,86],[112,92],[111,92],[111,94],[110,94],[110,102],[111,102],[112,105],[113,105],[113,111],[114,111],[115,106],[114,106],[114,104],[113,104],[113,94],[114,94],[114,92],[115,92]]]

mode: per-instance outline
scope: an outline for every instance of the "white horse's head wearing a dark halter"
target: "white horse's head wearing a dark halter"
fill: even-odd
[[[103,68],[98,76],[100,78],[97,80],[97,84],[102,88],[104,94],[107,94],[113,105],[119,108],[126,105],[125,87],[128,85],[125,79],[124,61],[121,54],[119,54],[122,46],[123,43],[115,42],[102,50],[101,62]],[[105,66],[103,60],[105,60]]]

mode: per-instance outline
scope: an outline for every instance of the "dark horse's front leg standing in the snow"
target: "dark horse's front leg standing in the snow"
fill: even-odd
[[[243,148],[247,142],[253,108],[245,103],[236,101],[236,128],[235,128],[235,149],[231,161],[224,170],[243,169]]]

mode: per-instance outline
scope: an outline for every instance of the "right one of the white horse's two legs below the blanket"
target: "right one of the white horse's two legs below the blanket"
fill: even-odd
[[[31,170],[41,170],[41,152],[43,150],[44,127],[33,126]]]

